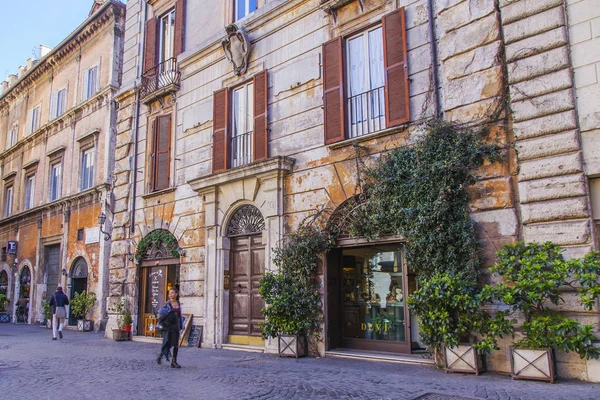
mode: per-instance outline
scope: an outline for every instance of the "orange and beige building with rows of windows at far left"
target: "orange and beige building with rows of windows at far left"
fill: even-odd
[[[88,317],[106,322],[110,241],[97,221],[110,221],[125,5],[92,3],[56,48],[2,82],[0,274],[14,322],[43,321],[59,285],[69,297],[95,292]]]

